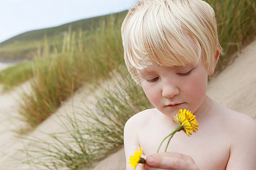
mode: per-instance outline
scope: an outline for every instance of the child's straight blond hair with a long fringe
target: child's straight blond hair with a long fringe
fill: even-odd
[[[138,82],[138,69],[197,65],[210,69],[218,42],[215,14],[200,0],[142,0],[131,7],[122,24],[127,69]]]

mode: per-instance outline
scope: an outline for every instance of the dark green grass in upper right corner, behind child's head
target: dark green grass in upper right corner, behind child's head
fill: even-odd
[[[230,56],[254,39],[256,8],[254,0],[208,0],[218,23],[218,37],[224,49],[217,70],[225,68]]]

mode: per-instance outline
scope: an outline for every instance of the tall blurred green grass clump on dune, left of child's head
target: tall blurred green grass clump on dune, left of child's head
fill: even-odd
[[[61,46],[52,48],[45,40],[38,51],[31,81],[32,93],[23,95],[20,114],[32,128],[56,111],[60,104],[84,83],[99,83],[109,71],[123,63],[121,22],[113,17],[103,22],[101,31],[90,35],[71,31]],[[86,36],[86,38],[84,38]]]

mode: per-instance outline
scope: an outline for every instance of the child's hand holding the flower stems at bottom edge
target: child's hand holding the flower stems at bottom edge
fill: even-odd
[[[183,155],[174,152],[163,152],[147,156],[144,169],[156,170],[156,169],[195,169],[199,168],[195,164],[191,156]]]

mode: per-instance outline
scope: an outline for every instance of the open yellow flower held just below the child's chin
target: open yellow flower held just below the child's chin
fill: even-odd
[[[193,115],[190,111],[180,109],[178,114],[174,116],[174,120],[177,124],[182,126],[182,130],[190,136],[193,132],[196,132],[198,128],[198,122],[196,121],[196,116]]]

